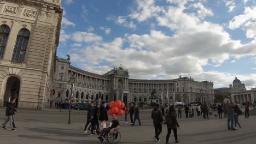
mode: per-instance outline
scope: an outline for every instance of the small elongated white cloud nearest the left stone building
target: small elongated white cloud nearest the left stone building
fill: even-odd
[[[78,43],[91,43],[101,41],[102,37],[89,32],[74,32],[71,39]]]

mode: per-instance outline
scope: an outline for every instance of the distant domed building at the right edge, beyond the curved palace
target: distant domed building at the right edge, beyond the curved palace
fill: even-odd
[[[256,99],[256,88],[252,88],[251,90],[246,90],[245,84],[242,83],[237,77],[232,83],[233,85],[229,85],[229,87],[223,88],[215,88],[215,94],[222,94],[223,97],[230,97],[231,101],[238,101],[240,103],[246,101],[253,101]]]

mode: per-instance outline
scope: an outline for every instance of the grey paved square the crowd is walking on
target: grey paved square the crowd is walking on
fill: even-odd
[[[151,110],[141,111],[141,126],[138,126],[138,123],[135,126],[125,124],[124,116],[118,117],[121,124],[120,143],[156,143],[153,140],[154,126],[150,112]],[[4,116],[5,108],[1,107],[1,124],[4,122]],[[72,124],[67,124],[67,110],[19,110],[15,116],[17,131],[11,131],[8,123],[9,130],[0,129],[1,143],[101,143],[96,135],[82,133],[86,111],[73,110],[71,116]],[[226,121],[226,118],[218,119],[213,116],[206,120],[202,117],[180,118],[178,122],[181,130],[178,129],[178,139],[180,143],[256,143],[256,116],[240,116],[242,130],[227,130]],[[166,134],[166,125],[162,125],[161,141],[158,143],[165,143]],[[172,133],[169,143],[174,142]]]

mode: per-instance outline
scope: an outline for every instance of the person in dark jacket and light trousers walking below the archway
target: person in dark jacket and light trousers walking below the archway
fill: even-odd
[[[10,103],[7,105],[6,110],[5,110],[5,121],[2,124],[2,129],[7,129],[5,125],[10,122],[10,127],[11,130],[16,131],[13,127],[13,115],[14,111],[18,112],[17,110],[14,109],[14,104],[15,104],[15,99],[11,99]]]

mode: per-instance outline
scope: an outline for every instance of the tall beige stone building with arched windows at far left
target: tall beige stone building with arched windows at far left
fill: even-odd
[[[0,2],[0,106],[43,109],[55,73],[60,0]]]

